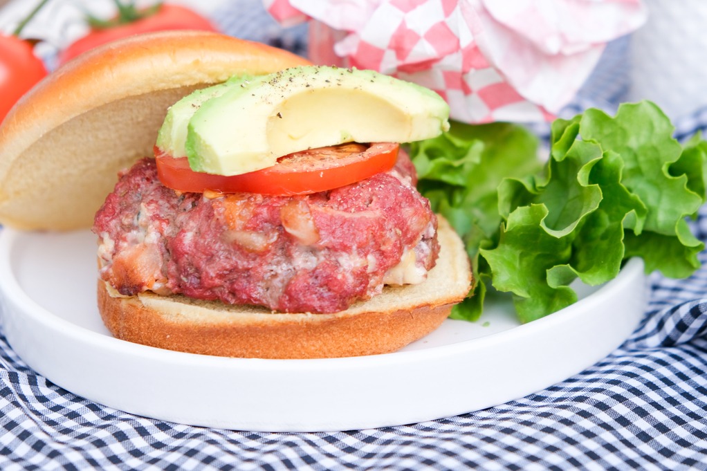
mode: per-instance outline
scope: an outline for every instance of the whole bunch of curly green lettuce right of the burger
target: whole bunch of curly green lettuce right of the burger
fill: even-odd
[[[419,189],[462,236],[477,279],[452,318],[479,318],[492,287],[530,322],[577,301],[575,279],[605,283],[630,257],[667,277],[699,268],[686,218],[706,200],[707,143],[673,133],[644,101],[556,120],[544,160],[515,124],[454,123],[411,144]]]

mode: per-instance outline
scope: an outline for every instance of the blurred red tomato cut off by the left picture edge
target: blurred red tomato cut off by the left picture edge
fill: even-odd
[[[19,98],[47,75],[30,42],[0,35],[0,122]]]

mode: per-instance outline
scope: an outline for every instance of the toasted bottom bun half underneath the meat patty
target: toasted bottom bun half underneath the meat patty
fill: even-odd
[[[163,349],[241,358],[311,359],[382,354],[435,330],[469,292],[464,245],[440,219],[440,256],[422,284],[387,286],[335,314],[281,314],[184,296],[112,297],[98,281],[98,306],[119,339]]]

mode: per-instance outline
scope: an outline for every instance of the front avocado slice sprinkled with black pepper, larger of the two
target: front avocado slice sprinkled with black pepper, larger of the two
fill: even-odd
[[[411,142],[449,129],[427,88],[375,71],[301,66],[257,76],[206,100],[189,120],[192,170],[239,175],[288,153],[344,142]]]

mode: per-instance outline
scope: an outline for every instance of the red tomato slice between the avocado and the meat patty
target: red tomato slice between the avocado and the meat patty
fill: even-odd
[[[291,153],[278,163],[242,175],[195,172],[186,157],[155,148],[157,175],[165,187],[181,192],[250,192],[291,196],[333,190],[390,170],[399,144],[341,144]]]

